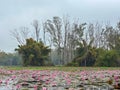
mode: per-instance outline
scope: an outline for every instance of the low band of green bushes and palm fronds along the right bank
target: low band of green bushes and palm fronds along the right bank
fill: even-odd
[[[67,66],[120,66],[120,56],[116,50],[105,50],[103,48],[90,48],[88,52],[84,48],[78,48],[76,57]]]

